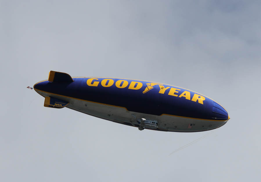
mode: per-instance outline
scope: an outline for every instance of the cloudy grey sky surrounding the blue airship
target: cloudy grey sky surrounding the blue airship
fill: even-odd
[[[260,1],[0,1],[1,181],[259,181]],[[149,80],[217,100],[206,135],[43,106],[50,70]]]

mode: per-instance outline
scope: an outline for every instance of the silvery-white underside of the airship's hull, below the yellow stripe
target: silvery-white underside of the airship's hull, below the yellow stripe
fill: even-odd
[[[215,120],[201,120],[201,119],[193,119],[193,118],[186,118],[186,117],[177,117],[172,115],[150,115],[150,114],[143,114],[143,113],[136,113],[132,111],[127,111],[125,108],[99,104],[89,101],[83,101],[78,99],[73,99],[65,96],[60,95],[52,95],[50,93],[45,93],[42,91],[37,92],[46,97],[54,97],[60,100],[64,100],[69,102],[66,106],[67,108],[80,111],[82,113],[86,113],[89,115],[93,115],[96,117],[100,117],[106,120],[111,120],[115,122],[121,123],[130,123],[138,125],[136,121],[139,118],[145,119],[152,119],[157,120],[158,128],[161,130],[166,131],[176,131],[176,132],[195,132],[195,131],[206,131],[215,128],[219,128],[220,126],[224,125],[227,121],[215,121]],[[136,118],[134,117],[136,116]],[[192,127],[188,127],[192,124]],[[146,128],[145,128],[146,129]]]

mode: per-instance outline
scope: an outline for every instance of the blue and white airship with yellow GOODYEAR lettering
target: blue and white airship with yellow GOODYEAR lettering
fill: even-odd
[[[45,107],[67,107],[139,130],[199,132],[219,128],[230,119],[215,100],[158,82],[50,71],[48,80],[33,89],[45,98]]]

